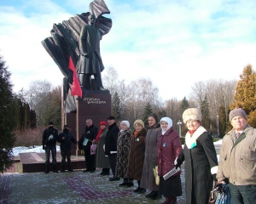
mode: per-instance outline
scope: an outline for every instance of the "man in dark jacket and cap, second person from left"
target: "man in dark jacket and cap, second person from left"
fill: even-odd
[[[78,144],[77,139],[73,137],[72,133],[69,133],[69,128],[64,125],[63,132],[59,134],[57,141],[61,143],[61,173],[65,172],[65,161],[67,157],[67,169],[68,172],[73,172],[71,167],[71,149],[72,143]]]

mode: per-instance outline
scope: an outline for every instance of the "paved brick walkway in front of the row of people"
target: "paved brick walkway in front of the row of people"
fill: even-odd
[[[3,173],[0,174],[0,203],[161,203],[146,199],[137,188],[119,187],[122,181],[108,181],[95,173]],[[182,174],[183,178],[183,174]],[[186,203],[184,195],[177,203]],[[146,192],[148,193],[148,191]]]

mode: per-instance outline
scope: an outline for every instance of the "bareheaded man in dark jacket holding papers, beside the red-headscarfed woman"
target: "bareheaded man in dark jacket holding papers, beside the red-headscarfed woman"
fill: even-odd
[[[86,170],[84,170],[83,172],[94,173],[95,169],[96,169],[94,167],[95,155],[90,155],[90,145],[92,143],[96,144],[96,135],[98,133],[98,128],[92,124],[91,119],[86,120],[86,125],[87,126],[85,127],[85,131],[84,131],[82,137],[79,139],[79,145],[83,145],[84,158],[85,158],[85,163],[86,163]],[[88,142],[85,145],[83,144],[84,139],[88,139]]]

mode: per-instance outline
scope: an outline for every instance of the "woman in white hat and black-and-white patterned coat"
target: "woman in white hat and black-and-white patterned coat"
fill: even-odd
[[[120,123],[120,132],[117,142],[117,160],[115,167],[115,175],[117,178],[124,178],[124,182],[119,184],[119,186],[133,186],[133,179],[127,178],[127,166],[128,166],[128,156],[130,150],[130,140],[131,140],[131,128],[130,122],[122,121]]]

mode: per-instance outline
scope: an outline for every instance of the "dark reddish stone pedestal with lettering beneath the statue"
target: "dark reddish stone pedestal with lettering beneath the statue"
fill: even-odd
[[[76,100],[76,105],[76,112],[63,112],[62,124],[67,124],[79,141],[86,127],[86,119],[91,119],[98,128],[101,121],[107,122],[107,117],[111,115],[111,94],[108,91],[87,91],[84,99]],[[77,145],[73,145],[72,153],[81,155]]]

